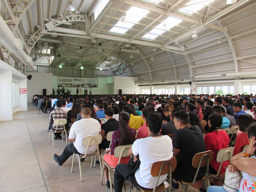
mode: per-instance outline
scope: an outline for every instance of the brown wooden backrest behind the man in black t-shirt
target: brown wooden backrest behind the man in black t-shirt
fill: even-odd
[[[197,168],[198,166],[204,167],[207,165],[207,156],[209,156],[209,164],[212,162],[212,157],[213,157],[213,151],[204,151],[201,153],[196,153],[192,159],[192,166],[194,168]],[[201,161],[202,159],[202,161]],[[200,164],[201,161],[201,164]]]

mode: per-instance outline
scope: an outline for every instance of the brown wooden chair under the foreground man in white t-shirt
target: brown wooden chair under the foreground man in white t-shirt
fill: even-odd
[[[167,166],[166,166],[167,165]],[[168,166],[169,165],[169,166]],[[158,191],[169,191],[171,192],[172,185],[170,184],[172,181],[172,172],[176,169],[177,166],[177,159],[175,157],[172,157],[169,161],[160,161],[160,162],[155,162],[152,167],[151,167],[151,176],[152,177],[157,177],[155,187],[153,189],[146,189],[146,188],[140,188],[134,184],[130,185],[129,192],[131,192],[132,187],[134,188],[135,192],[158,192]],[[164,181],[161,185],[157,187],[157,183],[159,181],[159,178],[161,175],[169,174],[169,181]]]

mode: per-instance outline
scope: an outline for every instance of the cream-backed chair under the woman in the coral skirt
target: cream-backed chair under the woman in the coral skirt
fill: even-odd
[[[115,148],[115,151],[114,151],[114,156],[115,157],[119,157],[119,160],[118,160],[118,163],[120,163],[121,161],[121,157],[128,157],[130,156],[128,154],[128,150],[132,147],[132,144],[131,145],[122,145],[122,146],[117,146]],[[103,158],[103,157],[102,157]],[[108,167],[108,178],[109,178],[109,183],[110,183],[110,191],[112,192],[112,180],[111,180],[111,172],[112,171],[115,171],[115,169],[111,168],[106,162],[103,163],[102,165],[102,172],[101,172],[101,180],[100,180],[100,185],[102,185],[102,182],[103,182],[103,174],[104,174],[104,168],[105,168],[105,165],[106,167]]]

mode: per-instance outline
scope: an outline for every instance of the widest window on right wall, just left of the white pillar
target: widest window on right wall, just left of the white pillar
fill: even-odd
[[[210,86],[210,87],[196,87],[196,94],[234,94],[234,86]]]

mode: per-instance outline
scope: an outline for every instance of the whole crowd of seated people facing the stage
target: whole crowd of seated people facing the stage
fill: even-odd
[[[36,98],[35,98],[36,97]],[[112,135],[111,148],[102,158],[111,168],[115,168],[115,191],[121,191],[123,181],[128,179],[142,188],[154,188],[156,178],[150,174],[153,163],[177,158],[177,167],[172,173],[172,187],[179,188],[179,180],[192,182],[196,168],[192,166],[195,154],[207,150],[213,151],[213,159],[209,173],[216,174],[220,163],[217,153],[220,149],[234,147],[231,165],[224,161],[220,174],[240,170],[243,174],[241,184],[254,186],[256,178],[256,157],[245,158],[255,153],[256,115],[254,113],[256,95],[84,95],[84,96],[35,96],[33,98],[44,113],[44,106],[49,106],[49,129],[63,130],[56,127],[55,119],[67,119],[65,128],[68,130],[70,144],[54,160],[61,166],[73,153],[83,155],[86,147],[83,139],[89,136],[102,136],[99,147],[106,149],[110,141],[106,139],[108,132]],[[45,103],[45,105],[43,104]],[[42,105],[43,104],[43,105]],[[46,107],[47,108],[47,107]],[[102,123],[100,119],[106,118]],[[238,132],[231,138],[223,129],[237,125]],[[135,135],[137,137],[135,138]],[[170,135],[174,135],[171,139]],[[54,139],[62,139],[61,133],[54,133]],[[168,136],[169,135],[169,136]],[[172,141],[173,140],[173,141]],[[128,157],[121,159],[114,156],[117,146],[132,144],[128,151],[133,161],[140,161],[139,169],[126,178],[131,172]],[[249,145],[247,151],[244,147]],[[89,153],[97,148],[90,147]],[[84,159],[81,159],[83,162]],[[97,161],[99,163],[99,160]],[[250,165],[252,164],[252,166]],[[254,165],[254,166],[253,166]],[[249,166],[251,169],[249,169]],[[252,171],[253,170],[253,171]],[[206,167],[200,168],[197,180],[201,180]],[[106,186],[110,188],[108,170],[105,167]],[[166,175],[160,177],[162,184]],[[250,180],[246,180],[250,179]],[[212,180],[214,182],[214,180]],[[214,183],[211,182],[212,185]],[[254,182],[254,183],[253,183]],[[200,191],[206,191],[202,186]],[[225,191],[223,187],[211,186],[208,191]],[[245,190],[240,186],[240,191]]]

